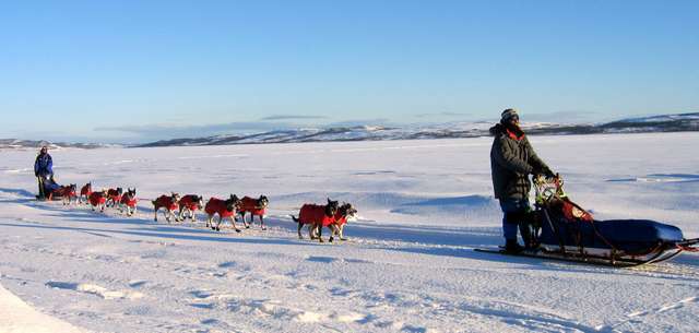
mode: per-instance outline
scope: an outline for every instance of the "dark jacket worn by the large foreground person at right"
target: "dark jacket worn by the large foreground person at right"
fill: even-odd
[[[513,139],[500,123],[490,128],[490,133],[495,135],[490,148],[490,174],[495,198],[529,198],[532,188],[529,175],[549,174],[550,169],[536,156],[524,133],[521,133],[521,139]]]

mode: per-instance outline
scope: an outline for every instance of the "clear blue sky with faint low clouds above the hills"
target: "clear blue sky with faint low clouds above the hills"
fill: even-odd
[[[699,109],[699,1],[8,2],[0,138]]]

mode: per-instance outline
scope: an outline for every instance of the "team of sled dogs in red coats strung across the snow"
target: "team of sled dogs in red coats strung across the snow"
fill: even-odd
[[[61,187],[57,193],[62,198],[64,205],[71,204],[73,200],[79,203],[87,203],[92,206],[92,210],[99,210],[104,212],[105,207],[119,207],[121,213],[126,212],[127,216],[131,216],[137,210],[137,194],[135,188],[127,188],[125,192],[122,188],[116,189],[103,189],[102,191],[93,191],[92,182],[87,182],[80,190],[80,195],[76,191],[76,185]],[[229,219],[230,225],[240,233],[240,229],[236,225],[238,217],[242,219],[244,227],[250,228],[254,221],[254,216],[260,219],[260,227],[262,230],[266,230],[264,225],[264,215],[266,207],[270,204],[269,199],[265,195],[254,199],[251,197],[238,198],[236,194],[230,194],[227,199],[218,199],[212,197],[204,204],[204,198],[198,194],[180,195],[179,193],[171,192],[169,195],[163,194],[157,199],[151,201],[153,204],[153,219],[157,221],[157,213],[164,210],[165,219],[170,223],[182,222],[190,218],[192,222],[197,222],[196,212],[203,211],[206,214],[206,227],[211,227],[214,230],[221,230],[221,224],[224,219]],[[175,211],[178,213],[175,214]],[[250,213],[250,223],[248,224],[246,215]],[[299,212],[298,217],[291,215],[292,219],[298,224],[298,238],[303,239],[301,229],[304,226],[308,226],[308,234],[310,239],[318,239],[320,242],[322,239],[323,227],[330,230],[330,241],[334,240],[337,236],[341,240],[345,240],[343,236],[343,229],[347,219],[352,219],[357,214],[357,210],[350,203],[343,203],[342,205],[337,201],[328,199],[325,204],[304,204]],[[214,224],[214,216],[218,215],[217,222]]]

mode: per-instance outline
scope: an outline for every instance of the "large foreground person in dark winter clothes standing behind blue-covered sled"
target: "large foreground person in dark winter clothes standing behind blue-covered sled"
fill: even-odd
[[[490,148],[490,173],[495,198],[500,200],[503,213],[505,251],[518,253],[524,249],[517,242],[518,226],[525,247],[530,246],[532,236],[529,226],[529,191],[532,183],[529,175],[554,177],[554,173],[534,153],[520,128],[516,109],[502,111],[500,122],[490,128],[490,134],[495,135]]]

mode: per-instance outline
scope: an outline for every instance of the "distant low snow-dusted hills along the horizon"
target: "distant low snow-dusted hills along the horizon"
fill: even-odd
[[[253,134],[229,134],[204,138],[162,140],[132,146],[154,147],[253,143],[477,138],[490,135],[488,130],[490,129],[490,127],[493,127],[493,121],[475,121],[405,127],[355,126],[332,128],[303,128],[295,130],[269,131]],[[686,132],[699,131],[699,112],[628,118],[606,123],[590,124],[526,122],[523,123],[522,127],[530,135]],[[0,150],[38,148],[43,145],[48,145],[51,148],[98,148],[120,146],[115,144],[99,143],[51,143],[47,141],[0,139]]]

